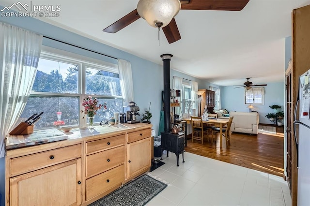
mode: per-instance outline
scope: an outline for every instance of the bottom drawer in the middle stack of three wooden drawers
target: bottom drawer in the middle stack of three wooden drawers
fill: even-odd
[[[109,189],[120,185],[125,180],[124,164],[86,180],[86,201]]]

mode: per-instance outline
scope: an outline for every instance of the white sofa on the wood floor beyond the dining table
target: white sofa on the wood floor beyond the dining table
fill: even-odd
[[[230,112],[229,116],[233,117],[232,132],[258,134],[259,118],[257,112]]]

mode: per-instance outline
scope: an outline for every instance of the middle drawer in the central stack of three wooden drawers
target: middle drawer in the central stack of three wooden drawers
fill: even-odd
[[[86,177],[107,171],[125,161],[125,146],[86,156]]]

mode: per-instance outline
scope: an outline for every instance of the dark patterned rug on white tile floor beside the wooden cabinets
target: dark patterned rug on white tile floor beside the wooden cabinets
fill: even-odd
[[[89,206],[143,206],[167,185],[143,175]]]

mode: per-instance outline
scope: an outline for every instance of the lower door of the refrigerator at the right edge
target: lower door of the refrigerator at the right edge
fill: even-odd
[[[299,124],[297,205],[310,206],[310,128]]]

